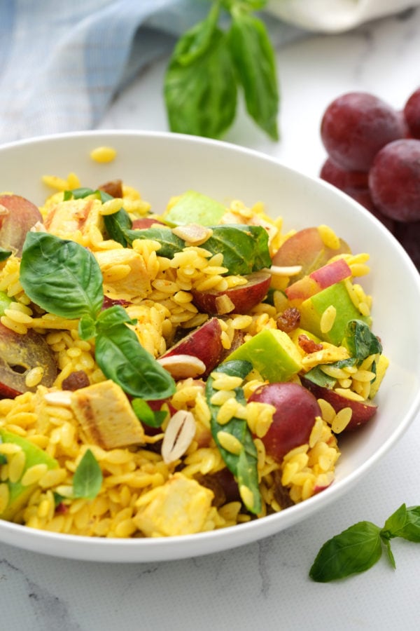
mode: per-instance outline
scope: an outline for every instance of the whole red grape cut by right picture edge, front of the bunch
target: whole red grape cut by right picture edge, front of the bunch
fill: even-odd
[[[374,205],[398,222],[420,220],[420,140],[395,140],[372,164],[369,189]]]

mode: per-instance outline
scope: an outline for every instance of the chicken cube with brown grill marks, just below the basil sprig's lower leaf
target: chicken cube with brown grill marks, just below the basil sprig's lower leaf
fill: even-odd
[[[111,379],[71,393],[71,408],[87,439],[99,447],[115,449],[144,442],[143,426]]]

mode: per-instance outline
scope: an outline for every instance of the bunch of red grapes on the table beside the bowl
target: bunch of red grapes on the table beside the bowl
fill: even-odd
[[[365,92],[332,101],[320,177],[381,220],[420,271],[420,88],[402,111]]]

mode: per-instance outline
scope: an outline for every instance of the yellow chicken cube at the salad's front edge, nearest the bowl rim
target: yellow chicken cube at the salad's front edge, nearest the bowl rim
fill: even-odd
[[[175,473],[137,501],[134,522],[146,536],[177,536],[200,532],[209,517],[213,492]]]

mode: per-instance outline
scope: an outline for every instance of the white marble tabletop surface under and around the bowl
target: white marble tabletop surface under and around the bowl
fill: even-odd
[[[241,114],[226,140],[264,151],[309,175],[325,152],[322,112],[350,90],[402,107],[419,86],[420,8],[336,36],[316,35],[278,50],[281,141],[273,144]],[[166,130],[156,62],[113,104],[102,128]],[[400,506],[420,504],[420,418],[393,450],[337,503],[298,527],[230,552],[167,563],[99,564],[55,559],[0,543],[0,629],[414,630],[420,614],[420,546],[393,541],[366,574],[312,583],[321,544],[358,520],[381,525]]]

